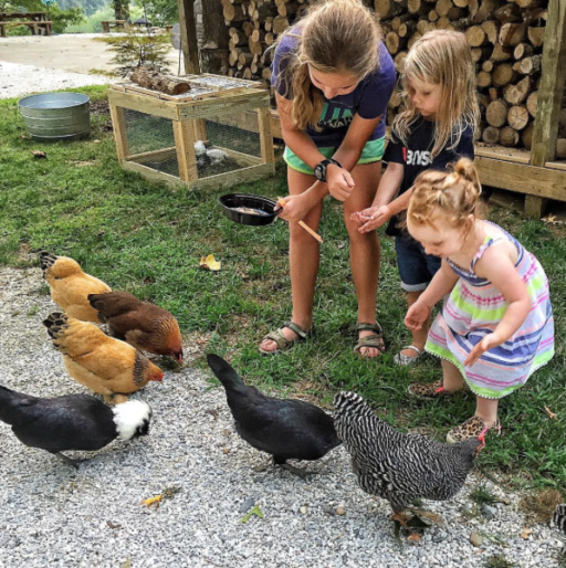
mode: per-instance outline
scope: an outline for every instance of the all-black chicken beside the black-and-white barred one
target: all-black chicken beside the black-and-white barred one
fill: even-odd
[[[235,431],[253,448],[273,455],[273,462],[304,476],[287,460],[318,460],[342,442],[331,416],[302,400],[282,400],[244,385],[240,376],[218,355],[208,365],[226,389]]]

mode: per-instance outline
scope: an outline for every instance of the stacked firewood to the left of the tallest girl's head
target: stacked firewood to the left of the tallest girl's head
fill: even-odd
[[[270,82],[271,48],[303,13],[307,0],[221,0],[229,34],[231,77]]]

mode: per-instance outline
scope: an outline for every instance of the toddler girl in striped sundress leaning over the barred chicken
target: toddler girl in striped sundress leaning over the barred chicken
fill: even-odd
[[[427,171],[415,183],[407,228],[442,267],[405,324],[420,330],[444,296],[427,351],[442,359],[443,379],[413,383],[409,395],[437,398],[467,385],[475,413],[451,430],[451,443],[501,429],[497,403],[522,387],[554,355],[548,282],[535,256],[511,234],[479,214],[481,186],[470,160],[454,171]]]

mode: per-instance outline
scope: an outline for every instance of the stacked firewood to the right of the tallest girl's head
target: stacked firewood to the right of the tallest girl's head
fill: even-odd
[[[531,148],[548,0],[375,0],[387,49],[398,71],[407,51],[430,30],[465,33],[476,63],[482,109],[480,137],[488,144]],[[402,111],[398,93],[388,123]],[[566,137],[566,109],[560,116]],[[558,143],[558,155],[566,140]]]

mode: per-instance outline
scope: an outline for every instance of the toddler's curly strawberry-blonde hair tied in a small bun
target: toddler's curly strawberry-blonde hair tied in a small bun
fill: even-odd
[[[483,217],[480,196],[482,186],[473,161],[459,159],[452,171],[427,170],[417,177],[407,210],[407,219],[416,225],[434,227],[439,211],[450,225],[464,227],[470,219]]]

